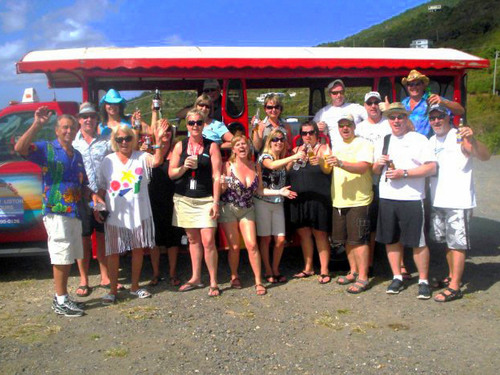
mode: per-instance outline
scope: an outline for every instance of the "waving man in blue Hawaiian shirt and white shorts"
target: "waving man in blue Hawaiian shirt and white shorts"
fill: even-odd
[[[71,264],[83,258],[79,204],[82,196],[89,196],[92,191],[87,186],[82,155],[72,146],[78,131],[73,116],[59,116],[55,140],[31,143],[51,115],[47,107],[38,108],[33,124],[17,141],[15,150],[42,168],[42,214],[55,286],[52,309],[59,315],[77,317],[84,312],[68,295],[68,277]],[[104,203],[97,194],[92,196],[94,202]]]

